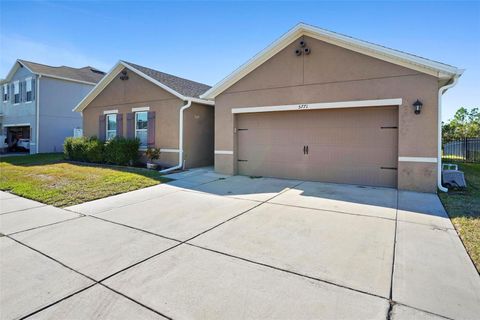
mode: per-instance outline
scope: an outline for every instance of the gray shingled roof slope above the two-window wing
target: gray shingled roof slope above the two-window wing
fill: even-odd
[[[211,88],[210,86],[203,83],[176,77],[168,73],[160,72],[147,67],[142,67],[138,64],[130,63],[127,61],[123,62],[186,97],[198,98],[201,94]]]

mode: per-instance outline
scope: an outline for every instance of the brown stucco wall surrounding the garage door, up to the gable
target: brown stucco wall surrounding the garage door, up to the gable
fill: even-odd
[[[304,39],[310,55],[294,50]],[[232,108],[334,101],[402,98],[399,107],[399,157],[436,157],[437,79],[309,37],[299,38],[215,99],[215,169],[236,173],[235,117]],[[412,103],[423,110],[415,115]],[[436,164],[399,164],[398,187],[436,190]],[[412,182],[412,173],[415,173]]]

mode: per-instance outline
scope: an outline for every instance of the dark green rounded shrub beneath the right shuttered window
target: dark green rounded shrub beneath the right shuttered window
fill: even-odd
[[[140,140],[138,139],[115,137],[105,143],[104,160],[112,164],[133,165],[140,157],[139,148]]]

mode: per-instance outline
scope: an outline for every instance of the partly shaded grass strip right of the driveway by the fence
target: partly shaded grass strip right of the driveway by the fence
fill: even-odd
[[[440,199],[480,272],[480,164],[459,163],[459,169],[465,173],[466,190],[440,193]]]

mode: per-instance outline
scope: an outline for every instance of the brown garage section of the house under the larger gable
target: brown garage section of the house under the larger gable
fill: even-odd
[[[442,94],[462,72],[298,24],[200,95],[215,170],[436,192]]]

